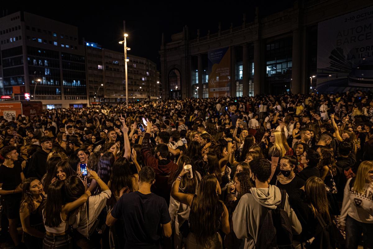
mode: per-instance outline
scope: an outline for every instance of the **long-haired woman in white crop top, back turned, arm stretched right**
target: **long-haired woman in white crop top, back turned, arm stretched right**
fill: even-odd
[[[46,234],[43,239],[43,249],[72,249],[72,239],[68,230],[70,211],[83,205],[91,192],[86,191],[73,202],[65,202],[63,196],[65,181],[54,181],[48,188],[48,198],[43,203],[43,221]]]

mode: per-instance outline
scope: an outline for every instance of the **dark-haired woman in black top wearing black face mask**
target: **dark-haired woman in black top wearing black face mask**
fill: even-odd
[[[297,165],[295,156],[284,156],[280,160],[280,174],[277,175],[276,186],[285,189],[289,196],[293,194],[294,190],[302,188],[305,183],[295,175],[295,165]]]

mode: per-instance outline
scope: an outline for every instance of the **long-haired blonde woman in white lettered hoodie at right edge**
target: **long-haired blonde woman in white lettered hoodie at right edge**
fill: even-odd
[[[364,248],[373,248],[373,162],[363,161],[356,178],[347,180],[339,228],[346,230],[346,248],[357,248],[363,233]]]

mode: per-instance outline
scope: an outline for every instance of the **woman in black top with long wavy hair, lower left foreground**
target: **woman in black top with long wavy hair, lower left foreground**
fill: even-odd
[[[44,201],[43,184],[38,178],[28,178],[23,183],[22,201],[19,209],[23,229],[23,241],[28,249],[43,247],[44,224],[40,204]]]

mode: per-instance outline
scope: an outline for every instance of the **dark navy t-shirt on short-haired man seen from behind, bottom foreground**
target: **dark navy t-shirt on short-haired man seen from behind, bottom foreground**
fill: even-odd
[[[123,194],[115,204],[113,218],[122,219],[126,248],[151,248],[159,244],[159,224],[171,221],[166,200],[138,191]]]

